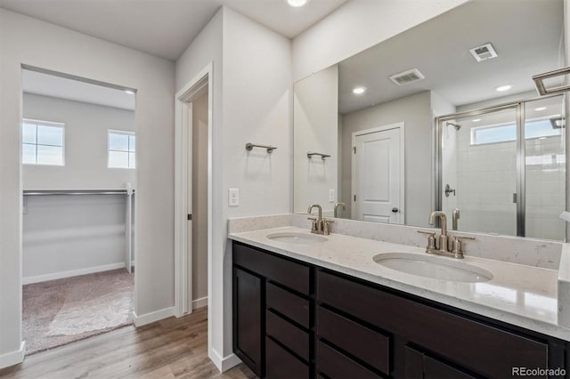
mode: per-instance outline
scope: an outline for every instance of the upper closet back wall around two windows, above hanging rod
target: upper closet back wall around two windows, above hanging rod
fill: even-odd
[[[24,189],[120,189],[135,170],[109,168],[108,131],[134,132],[134,111],[24,93],[23,116],[65,124],[65,165],[23,165]]]

